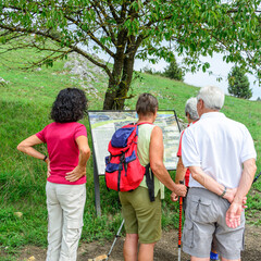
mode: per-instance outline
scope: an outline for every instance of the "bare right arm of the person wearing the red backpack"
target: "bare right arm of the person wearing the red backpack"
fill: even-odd
[[[150,166],[153,174],[163,183],[171,191],[174,191],[176,195],[185,197],[187,188],[184,185],[177,185],[171,178],[169,172],[166,171],[163,164],[163,136],[160,127],[156,126],[152,129],[150,138]]]

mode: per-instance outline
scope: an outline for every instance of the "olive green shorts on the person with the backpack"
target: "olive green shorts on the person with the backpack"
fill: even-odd
[[[139,243],[157,243],[161,238],[160,192],[150,202],[148,188],[138,187],[130,192],[119,192],[122,215],[127,234],[138,234]]]

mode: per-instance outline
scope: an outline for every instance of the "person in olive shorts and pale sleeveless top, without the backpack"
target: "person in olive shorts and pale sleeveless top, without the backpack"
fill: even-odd
[[[142,124],[138,126],[137,154],[141,165],[150,163],[154,175],[154,201],[150,201],[146,176],[133,191],[119,192],[126,231],[123,249],[125,261],[153,260],[154,245],[161,238],[161,199],[164,198],[164,186],[182,197],[187,191],[185,185],[172,181],[163,164],[163,135],[161,128],[153,125],[157,110],[158,100],[154,96],[139,96],[136,103],[137,123]]]

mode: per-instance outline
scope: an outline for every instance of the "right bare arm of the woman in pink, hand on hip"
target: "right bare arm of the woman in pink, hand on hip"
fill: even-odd
[[[86,136],[77,137],[76,144],[79,149],[78,165],[72,172],[66,173],[65,178],[69,182],[76,182],[82,176],[86,175],[86,164],[90,157],[90,148]]]

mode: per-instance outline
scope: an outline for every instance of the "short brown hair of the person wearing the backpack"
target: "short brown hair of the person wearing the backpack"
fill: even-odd
[[[139,96],[136,103],[136,111],[138,114],[148,115],[154,113],[158,109],[158,100],[150,94],[142,94]]]

